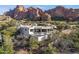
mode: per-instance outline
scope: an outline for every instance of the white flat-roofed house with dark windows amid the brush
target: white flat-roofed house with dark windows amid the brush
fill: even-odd
[[[26,36],[31,35],[37,37],[38,41],[42,41],[48,38],[48,35],[52,33],[56,26],[20,25],[18,28],[25,28]]]

